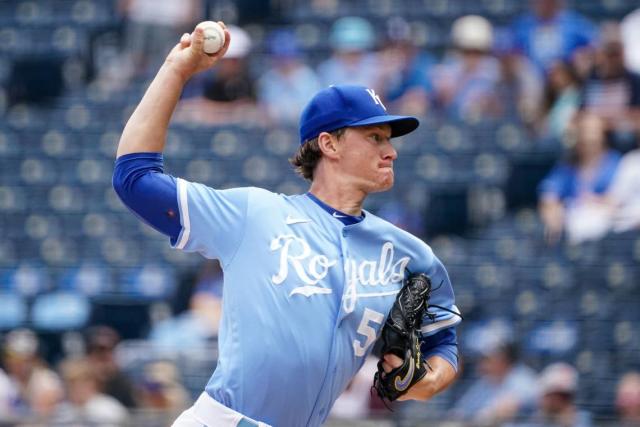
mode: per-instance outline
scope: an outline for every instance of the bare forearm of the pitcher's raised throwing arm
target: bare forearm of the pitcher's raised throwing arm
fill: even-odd
[[[169,62],[158,71],[120,137],[117,157],[129,153],[161,153],[184,77]]]

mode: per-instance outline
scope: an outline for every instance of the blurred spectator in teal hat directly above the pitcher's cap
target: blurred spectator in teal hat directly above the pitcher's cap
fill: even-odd
[[[333,54],[318,66],[322,86],[354,84],[378,89],[380,61],[373,52],[375,43],[375,32],[366,19],[338,19],[329,36]]]

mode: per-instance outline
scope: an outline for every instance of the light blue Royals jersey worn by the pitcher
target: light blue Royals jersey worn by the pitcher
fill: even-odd
[[[369,212],[344,226],[306,195],[182,179],[178,202],[175,247],[224,269],[220,356],[206,392],[253,419],[320,425],[371,352],[405,269],[429,274],[431,302],[457,311],[429,246]],[[459,321],[431,311],[425,335]]]

